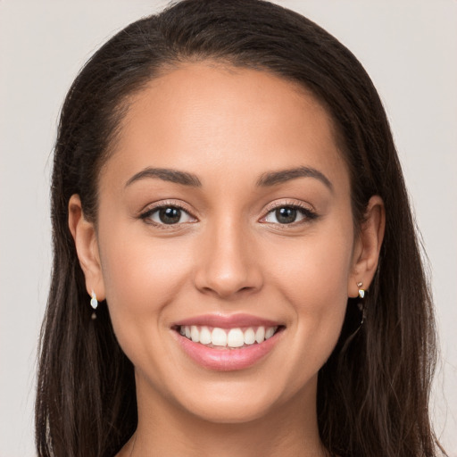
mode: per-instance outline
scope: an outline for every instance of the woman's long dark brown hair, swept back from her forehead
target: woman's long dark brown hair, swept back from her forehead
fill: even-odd
[[[54,154],[54,267],[40,345],[38,455],[112,457],[136,428],[133,366],[106,306],[91,320],[68,203],[79,194],[96,222],[98,173],[129,96],[180,62],[204,59],[270,71],[311,90],[336,125],[356,227],[370,196],[386,205],[365,322],[353,335],[359,316],[349,299],[337,347],[320,370],[322,443],[341,456],[436,455],[428,416],[433,309],[386,113],[345,46],[300,14],[261,0],[184,0],[134,22],[94,54],[71,86]]]

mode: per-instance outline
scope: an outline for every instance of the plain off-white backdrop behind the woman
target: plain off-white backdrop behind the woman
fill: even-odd
[[[441,361],[430,402],[457,456],[457,2],[284,0],[348,46],[386,106],[428,252]],[[33,456],[63,97],[96,48],[164,1],[0,0],[0,457]],[[381,455],[381,453],[379,454]]]

